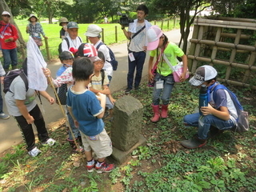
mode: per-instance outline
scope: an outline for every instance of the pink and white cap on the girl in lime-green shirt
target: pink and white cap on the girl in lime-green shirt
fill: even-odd
[[[162,36],[162,30],[158,26],[150,26],[146,31],[147,50],[155,50],[158,48],[159,38]]]

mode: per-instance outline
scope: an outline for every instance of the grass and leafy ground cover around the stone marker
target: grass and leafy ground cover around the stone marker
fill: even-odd
[[[169,118],[150,122],[152,88],[131,91],[144,106],[141,133],[146,145],[134,150],[126,162],[110,174],[87,173],[81,156],[71,154],[66,142],[65,123],[49,127],[55,146],[42,147],[42,154],[30,158],[19,144],[4,154],[0,162],[0,191],[255,191],[256,123],[255,92],[230,87],[240,95],[245,110],[250,109],[250,131],[225,131],[200,149],[187,150],[178,141],[196,132],[182,125],[182,118],[198,106],[198,90],[185,83],[174,86]],[[121,91],[113,94],[121,98]],[[111,132],[110,122],[105,121]],[[75,166],[74,162],[78,163]]]

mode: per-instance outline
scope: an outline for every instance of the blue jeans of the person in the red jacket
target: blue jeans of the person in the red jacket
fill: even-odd
[[[9,66],[17,66],[18,64],[18,58],[17,58],[17,48],[14,48],[12,50],[3,50],[2,49],[2,55],[3,55],[3,68],[5,70],[9,69]]]

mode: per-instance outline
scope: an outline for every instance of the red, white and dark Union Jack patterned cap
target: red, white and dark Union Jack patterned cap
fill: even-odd
[[[90,43],[82,43],[78,48],[77,55],[80,57],[89,58],[92,62],[101,60],[100,58],[98,58],[98,51],[96,50],[94,45]]]

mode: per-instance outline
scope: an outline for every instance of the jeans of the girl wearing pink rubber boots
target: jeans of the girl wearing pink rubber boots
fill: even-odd
[[[156,84],[154,83],[154,91],[153,91],[153,105],[158,106],[160,103],[160,95],[162,93],[162,105],[168,105],[170,101],[170,94],[174,88],[174,76],[169,74],[168,76],[162,76],[161,74],[156,74],[154,77],[154,81],[163,80],[163,89],[157,89]]]

